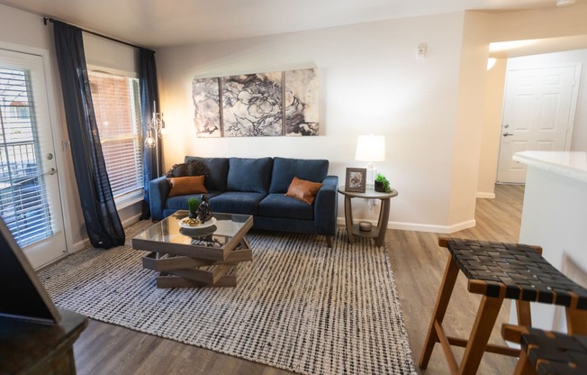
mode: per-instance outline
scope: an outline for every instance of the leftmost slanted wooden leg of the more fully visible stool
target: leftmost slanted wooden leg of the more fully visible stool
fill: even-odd
[[[447,268],[445,269],[445,274],[442,278],[442,284],[438,290],[436,306],[434,306],[434,313],[430,319],[430,326],[426,336],[426,341],[424,342],[424,349],[422,350],[422,354],[420,356],[420,369],[426,369],[428,367],[428,362],[430,360],[430,356],[432,355],[434,344],[438,343],[438,334],[434,328],[434,322],[442,324],[442,320],[444,319],[447,312],[448,301],[450,300],[450,296],[452,295],[453,289],[455,288],[457,276],[458,266],[451,257],[448,257]]]

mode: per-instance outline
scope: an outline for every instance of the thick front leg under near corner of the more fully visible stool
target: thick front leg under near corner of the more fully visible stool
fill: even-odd
[[[481,299],[469,341],[466,343],[465,354],[458,369],[459,374],[474,374],[477,372],[483,352],[485,352],[485,346],[489,342],[489,336],[492,334],[493,325],[495,325],[495,320],[500,313],[502,302],[503,297],[483,296]]]

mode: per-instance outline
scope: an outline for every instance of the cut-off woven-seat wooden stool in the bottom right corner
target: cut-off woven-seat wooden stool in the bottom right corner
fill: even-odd
[[[584,375],[587,373],[587,336],[569,335],[519,325],[502,325],[501,335],[519,343],[514,375]]]

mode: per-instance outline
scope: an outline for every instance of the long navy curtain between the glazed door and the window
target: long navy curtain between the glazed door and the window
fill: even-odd
[[[95,122],[82,30],[59,21],[53,24],[71,156],[86,232],[95,247],[120,246],[124,244],[124,228],[114,205]]]

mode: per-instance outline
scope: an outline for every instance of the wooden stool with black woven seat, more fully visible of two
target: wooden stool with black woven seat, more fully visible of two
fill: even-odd
[[[450,238],[439,238],[438,244],[446,247],[451,256],[438,291],[420,368],[428,366],[435,343],[442,345],[453,374],[476,373],[483,352],[518,357],[519,349],[488,344],[504,298],[516,300],[519,325],[532,325],[529,302],[540,302],[565,306],[569,334],[587,334],[587,289],[548,263],[539,246]],[[468,291],[483,296],[468,340],[448,337],[442,327],[459,269],[468,279]],[[460,366],[450,345],[465,347]]]

